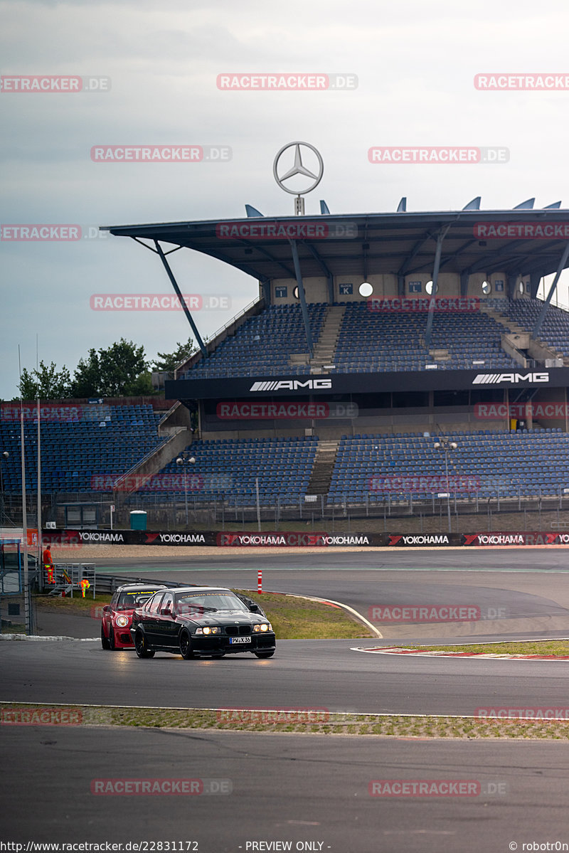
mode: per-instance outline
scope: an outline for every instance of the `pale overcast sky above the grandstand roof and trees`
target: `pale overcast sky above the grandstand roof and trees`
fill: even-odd
[[[0,397],[39,357],[72,373],[90,347],[124,336],[148,357],[189,334],[181,312],[96,312],[94,293],[171,293],[159,258],[98,225],[240,218],[246,203],[287,215],[272,177],[285,143],[311,142],[324,177],[306,199],[330,211],[483,209],[567,187],[569,90],[481,91],[477,73],[568,73],[566,0],[123,0],[0,3],[4,76],[110,78],[102,92],[0,92],[6,224],[68,223],[80,241],[0,242]],[[344,73],[357,88],[226,91],[220,73]],[[97,145],[201,145],[231,160],[110,163]],[[501,146],[501,165],[372,165],[372,146]],[[89,231],[90,229],[90,231]],[[212,334],[258,295],[257,281],[183,250],[171,258],[183,293],[227,294],[229,310],[195,315]],[[569,302],[563,281],[560,300]]]

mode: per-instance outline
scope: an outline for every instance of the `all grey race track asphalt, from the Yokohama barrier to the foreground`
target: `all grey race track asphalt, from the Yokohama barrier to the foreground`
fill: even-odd
[[[384,635],[399,631],[398,642],[409,634],[433,641],[433,632],[458,641],[568,636],[567,554],[546,548],[328,550],[160,560],[157,550],[154,560],[97,563],[109,573],[247,589],[256,587],[262,564],[264,589],[344,601],[363,615],[378,604],[476,604],[485,612],[505,611],[501,618],[461,624],[462,635],[449,633],[448,624],[380,625]],[[71,635],[82,630],[96,636],[99,626],[90,618],[67,621]],[[379,643],[279,641],[270,660],[239,654],[195,661],[161,653],[139,660],[132,651],[103,652],[98,641],[3,642],[0,699],[465,715],[479,708],[569,705],[567,662],[353,651],[389,642],[387,636]],[[520,851],[527,843],[569,844],[564,742],[8,725],[0,726],[0,739],[2,840],[182,841],[176,853],[502,853],[514,850],[512,844]],[[109,778],[229,780],[231,793],[188,798],[90,792],[92,780]],[[470,780],[480,789],[472,797],[372,798],[372,780]],[[197,846],[185,844],[189,840]]]

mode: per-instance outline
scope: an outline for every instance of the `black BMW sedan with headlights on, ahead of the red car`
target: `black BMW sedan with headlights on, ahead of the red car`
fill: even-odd
[[[185,660],[276,652],[275,632],[258,605],[220,587],[160,589],[133,612],[131,635],[139,658],[159,651]]]

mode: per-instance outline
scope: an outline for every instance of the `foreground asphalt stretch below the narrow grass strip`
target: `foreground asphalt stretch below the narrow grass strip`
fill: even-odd
[[[567,744],[6,728],[3,841],[177,841],[199,853],[277,841],[325,853],[506,853],[569,841]],[[90,793],[109,779],[223,780],[231,793]],[[372,780],[468,780],[473,795],[371,797]]]

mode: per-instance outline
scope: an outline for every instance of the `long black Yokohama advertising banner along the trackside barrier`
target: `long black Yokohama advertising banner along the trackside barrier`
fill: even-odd
[[[186,545],[212,548],[497,548],[569,546],[569,532],[503,531],[484,533],[328,533],[325,531],[44,531],[44,544]]]

